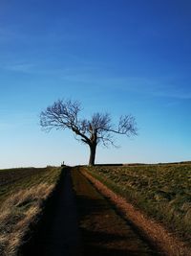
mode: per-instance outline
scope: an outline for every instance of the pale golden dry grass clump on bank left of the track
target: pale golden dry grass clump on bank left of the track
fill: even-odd
[[[41,183],[8,198],[0,208],[0,255],[16,255],[30,223],[41,211],[43,199],[49,197],[53,185]]]

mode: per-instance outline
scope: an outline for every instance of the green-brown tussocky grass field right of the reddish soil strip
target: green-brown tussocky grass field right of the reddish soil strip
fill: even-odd
[[[97,166],[88,172],[191,245],[191,164]]]

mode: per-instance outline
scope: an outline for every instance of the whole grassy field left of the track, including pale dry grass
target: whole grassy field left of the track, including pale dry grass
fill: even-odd
[[[0,255],[17,255],[60,174],[53,167],[0,170]]]

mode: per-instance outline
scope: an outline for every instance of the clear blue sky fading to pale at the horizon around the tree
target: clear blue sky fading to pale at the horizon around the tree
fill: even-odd
[[[39,127],[58,98],[136,117],[138,136],[97,163],[191,160],[190,13],[189,0],[1,0],[0,168],[88,162],[72,133]]]

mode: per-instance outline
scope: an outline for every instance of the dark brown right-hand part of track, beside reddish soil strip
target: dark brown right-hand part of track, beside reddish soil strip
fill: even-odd
[[[72,171],[77,198],[83,255],[163,255],[142,238],[132,224],[76,169]]]

